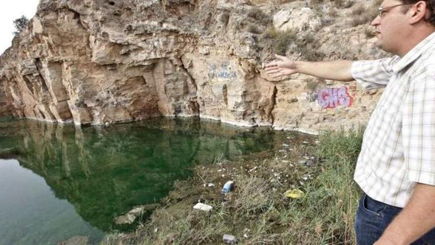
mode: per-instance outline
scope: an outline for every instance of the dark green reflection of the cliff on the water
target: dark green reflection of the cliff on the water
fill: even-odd
[[[23,120],[0,123],[0,158],[17,159],[93,227],[110,231],[115,216],[158,201],[193,164],[265,150],[277,134],[198,119],[110,127]]]

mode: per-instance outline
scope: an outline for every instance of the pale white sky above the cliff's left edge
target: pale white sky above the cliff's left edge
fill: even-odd
[[[31,19],[39,0],[3,0],[0,2],[0,54],[11,46],[15,27],[13,21],[26,16]]]

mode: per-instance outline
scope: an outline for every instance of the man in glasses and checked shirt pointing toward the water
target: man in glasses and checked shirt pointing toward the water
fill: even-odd
[[[276,55],[273,77],[297,72],[386,86],[364,133],[354,180],[360,245],[435,244],[435,0],[384,0],[371,23],[373,61],[300,62]]]

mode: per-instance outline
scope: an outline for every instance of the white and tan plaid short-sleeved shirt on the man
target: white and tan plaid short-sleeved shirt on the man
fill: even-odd
[[[435,185],[435,33],[402,58],[355,61],[364,88],[385,87],[364,132],[354,180],[403,207],[416,183]]]

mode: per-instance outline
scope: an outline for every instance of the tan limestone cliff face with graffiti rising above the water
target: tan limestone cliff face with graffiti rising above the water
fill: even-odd
[[[380,91],[271,79],[261,67],[273,50],[261,33],[272,23],[316,31],[322,59],[378,57],[364,26],[322,27],[323,10],[281,2],[41,0],[0,57],[0,115],[76,124],[200,116],[310,131],[363,124]]]

